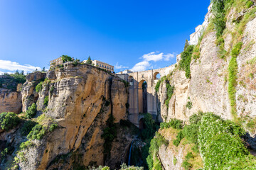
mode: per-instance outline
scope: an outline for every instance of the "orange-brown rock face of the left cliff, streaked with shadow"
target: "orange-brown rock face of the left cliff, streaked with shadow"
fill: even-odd
[[[40,81],[43,84],[37,93],[35,88]],[[64,64],[47,76],[29,74],[22,88],[23,111],[36,103],[38,118],[34,121],[45,127],[57,123],[58,128],[47,130],[41,140],[31,140],[33,147],[23,152],[24,159],[17,156],[25,160],[19,161],[18,166],[54,169],[61,165],[65,169],[76,165],[120,165],[134,137],[132,132],[119,127],[110,154],[104,154],[102,134],[110,115],[117,126],[120,120],[127,120],[127,99],[127,88],[121,79],[87,64]]]

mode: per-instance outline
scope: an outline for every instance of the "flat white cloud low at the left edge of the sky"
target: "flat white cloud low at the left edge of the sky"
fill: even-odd
[[[38,69],[41,70],[40,67],[31,66],[29,64],[18,64],[18,62],[11,62],[9,60],[0,60],[0,69],[9,70],[9,71],[16,71],[23,70],[26,72],[33,72],[34,70]]]

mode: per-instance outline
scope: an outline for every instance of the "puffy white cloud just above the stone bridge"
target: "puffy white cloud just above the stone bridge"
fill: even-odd
[[[135,64],[131,70],[133,72],[141,72],[146,69],[153,69],[153,66],[149,62],[151,62],[151,61],[159,62],[159,61],[163,61],[163,60],[169,61],[174,57],[175,57],[175,55],[171,54],[171,53],[164,55],[164,52],[149,52],[146,55],[142,55],[142,57],[140,57],[140,58],[143,59],[143,61]]]

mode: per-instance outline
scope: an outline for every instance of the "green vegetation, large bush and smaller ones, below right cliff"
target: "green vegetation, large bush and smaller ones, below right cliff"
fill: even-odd
[[[180,129],[180,125],[180,120],[171,120],[170,123],[161,123],[161,128]],[[178,147],[185,137],[188,143],[193,144],[193,152],[200,152],[203,157],[204,169],[256,169],[256,159],[242,139],[245,130],[231,120],[223,120],[213,113],[199,112],[192,115],[189,125],[182,128],[174,140],[174,146]],[[152,143],[152,146],[155,144]],[[193,154],[188,152],[182,164],[185,169],[191,168],[190,159],[193,159]]]

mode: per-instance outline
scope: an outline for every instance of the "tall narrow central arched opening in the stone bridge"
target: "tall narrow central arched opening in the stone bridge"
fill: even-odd
[[[147,84],[145,80],[139,81],[139,113],[147,113]]]

